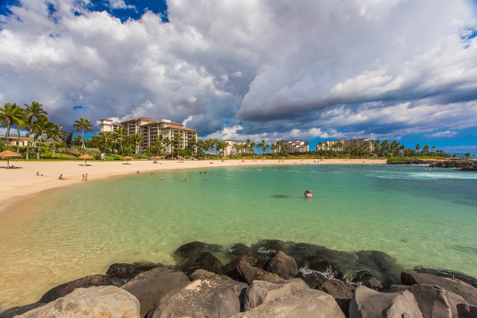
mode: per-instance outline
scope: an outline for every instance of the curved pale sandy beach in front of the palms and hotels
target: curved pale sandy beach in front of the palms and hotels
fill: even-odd
[[[9,204],[13,201],[20,200],[36,194],[40,191],[51,188],[82,185],[86,182],[82,181],[82,175],[88,174],[88,183],[101,181],[109,178],[115,178],[125,175],[140,173],[161,172],[166,170],[190,169],[190,168],[211,168],[226,167],[238,165],[276,165],[276,164],[385,164],[386,160],[381,159],[286,159],[278,160],[262,160],[250,159],[242,160],[203,160],[191,161],[185,160],[178,162],[174,160],[158,161],[154,164],[151,160],[133,160],[130,164],[124,164],[123,161],[93,161],[89,162],[90,166],[83,166],[80,161],[10,161],[22,169],[0,169],[0,206]],[[316,161],[316,162],[315,162]],[[212,162],[213,164],[210,164]],[[6,166],[6,162],[0,164]],[[42,174],[37,176],[36,173]],[[60,174],[65,178],[59,180]]]

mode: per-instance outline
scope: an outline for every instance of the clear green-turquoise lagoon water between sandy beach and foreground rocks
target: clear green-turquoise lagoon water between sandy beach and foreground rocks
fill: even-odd
[[[406,268],[477,277],[477,174],[364,164],[259,168],[139,174],[8,206],[0,211],[0,310],[104,274],[114,262],[171,262],[173,249],[194,240],[373,249]],[[303,197],[306,189],[312,198]]]

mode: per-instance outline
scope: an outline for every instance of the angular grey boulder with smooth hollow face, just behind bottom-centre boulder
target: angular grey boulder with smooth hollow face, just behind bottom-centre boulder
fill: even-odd
[[[250,310],[270,300],[286,296],[295,291],[310,289],[300,278],[285,280],[277,284],[254,280],[245,293],[244,310]]]

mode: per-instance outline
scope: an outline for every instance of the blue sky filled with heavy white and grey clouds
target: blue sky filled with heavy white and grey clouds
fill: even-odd
[[[473,0],[0,0],[0,104],[473,153],[476,35]]]

